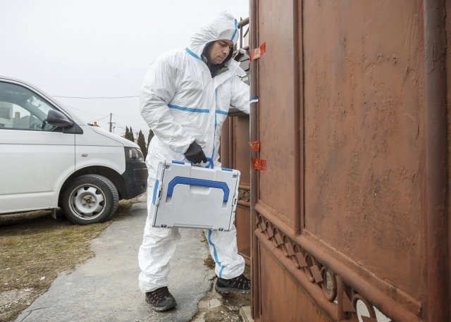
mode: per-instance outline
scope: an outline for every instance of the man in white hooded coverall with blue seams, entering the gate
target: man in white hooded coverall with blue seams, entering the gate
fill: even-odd
[[[249,113],[249,86],[238,75],[243,71],[233,56],[237,20],[221,13],[204,25],[190,45],[160,56],[144,79],[141,114],[154,137],[149,144],[148,191],[154,189],[156,169],[162,161],[218,161],[221,126],[233,106]],[[152,204],[148,194],[147,209]],[[178,228],[152,228],[147,216],[139,252],[140,289],[156,311],[177,304],[168,291],[169,261],[180,240]],[[250,292],[244,275],[245,261],[237,254],[236,229],[206,230],[211,256],[216,262],[217,292]]]

